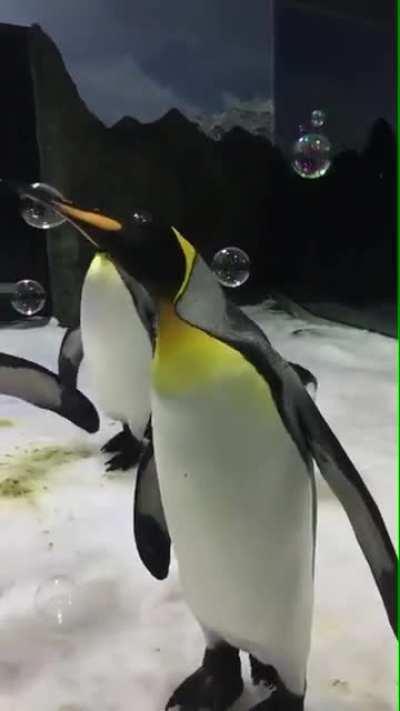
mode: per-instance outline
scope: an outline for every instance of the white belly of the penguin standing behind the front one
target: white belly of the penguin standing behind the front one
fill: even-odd
[[[141,435],[150,410],[148,334],[112,263],[95,257],[81,301],[85,360],[99,405]]]

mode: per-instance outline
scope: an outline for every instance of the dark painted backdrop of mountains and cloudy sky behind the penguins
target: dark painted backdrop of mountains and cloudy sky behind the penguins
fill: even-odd
[[[351,0],[257,0],[246,14],[238,0],[207,1],[201,12],[178,0],[168,10],[142,5],[134,14],[123,0],[86,2],[80,13],[58,2],[2,5],[0,20],[36,20],[50,32],[89,109],[39,31],[1,26],[2,174],[41,175],[109,208],[139,200],[187,231],[207,259],[227,244],[242,247],[253,266],[231,292],[241,303],[283,291],[393,332],[393,3],[380,0],[374,11]],[[333,164],[307,181],[291,169],[291,146],[314,108],[327,113]],[[215,116],[225,126],[218,141],[199,128]],[[257,129],[267,119],[270,140]],[[71,290],[79,291],[89,252],[71,256],[67,235],[54,259],[55,239],[46,246],[15,201],[0,199],[0,281],[48,286],[49,255],[54,312],[76,320]],[[11,318],[4,299],[0,309]]]

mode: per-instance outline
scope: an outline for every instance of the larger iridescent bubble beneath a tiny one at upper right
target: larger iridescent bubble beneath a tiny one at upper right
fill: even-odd
[[[302,178],[322,178],[331,165],[331,143],[319,133],[307,133],[293,146],[292,166]]]

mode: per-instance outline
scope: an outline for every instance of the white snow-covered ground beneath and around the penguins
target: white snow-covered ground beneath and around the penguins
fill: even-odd
[[[394,538],[395,342],[263,307],[248,311],[285,357],[317,375],[319,406]],[[1,329],[0,351],[54,370],[62,333],[55,323]],[[80,386],[90,394],[87,382],[83,367]],[[162,711],[198,666],[202,638],[176,566],[160,583],[136,554],[134,475],[104,472],[99,447],[116,431],[108,421],[90,436],[0,396],[0,484],[22,484],[20,497],[0,497],[0,711]],[[340,505],[324,484],[319,495],[306,709],[392,711],[392,632]],[[234,711],[262,698],[247,667],[246,679]]]

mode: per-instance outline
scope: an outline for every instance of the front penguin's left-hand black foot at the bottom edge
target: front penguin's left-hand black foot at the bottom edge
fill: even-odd
[[[228,644],[207,649],[202,666],[171,696],[170,711],[226,711],[243,691],[239,652]]]

